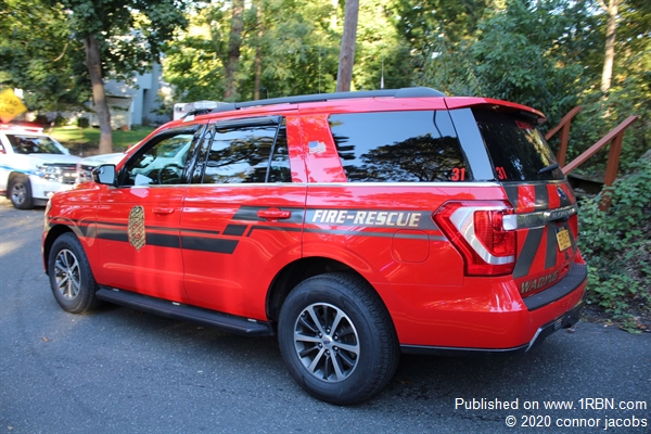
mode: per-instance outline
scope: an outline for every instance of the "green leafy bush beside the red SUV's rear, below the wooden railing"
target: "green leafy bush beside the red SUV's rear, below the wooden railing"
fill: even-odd
[[[608,212],[601,196],[579,212],[579,247],[588,263],[588,303],[615,318],[651,311],[651,154],[631,165],[610,194]]]

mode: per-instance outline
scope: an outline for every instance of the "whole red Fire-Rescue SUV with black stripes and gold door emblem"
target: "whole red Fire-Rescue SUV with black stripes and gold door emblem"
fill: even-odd
[[[71,312],[278,334],[341,405],[400,353],[526,352],[577,321],[587,275],[544,120],[429,88],[221,104],[55,194],[46,272]]]

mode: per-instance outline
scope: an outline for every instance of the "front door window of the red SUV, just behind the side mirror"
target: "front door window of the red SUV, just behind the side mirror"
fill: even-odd
[[[188,183],[183,169],[194,152],[195,135],[167,132],[145,144],[125,165],[122,186],[169,186]]]

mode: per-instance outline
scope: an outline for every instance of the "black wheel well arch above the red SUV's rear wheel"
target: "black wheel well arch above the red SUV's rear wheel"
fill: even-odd
[[[284,299],[298,283],[314,276],[333,271],[349,271],[363,279],[347,265],[323,257],[303,258],[285,266],[271,282],[267,294],[267,318],[278,322]]]

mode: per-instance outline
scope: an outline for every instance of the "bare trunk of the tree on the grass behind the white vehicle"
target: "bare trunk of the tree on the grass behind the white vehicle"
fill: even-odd
[[[86,67],[90,75],[92,86],[92,101],[95,113],[100,119],[100,154],[110,154],[113,152],[113,130],[111,129],[111,112],[104,92],[104,82],[102,81],[102,62],[100,60],[100,47],[94,36],[89,35],[84,38],[84,48],[86,49]]]

